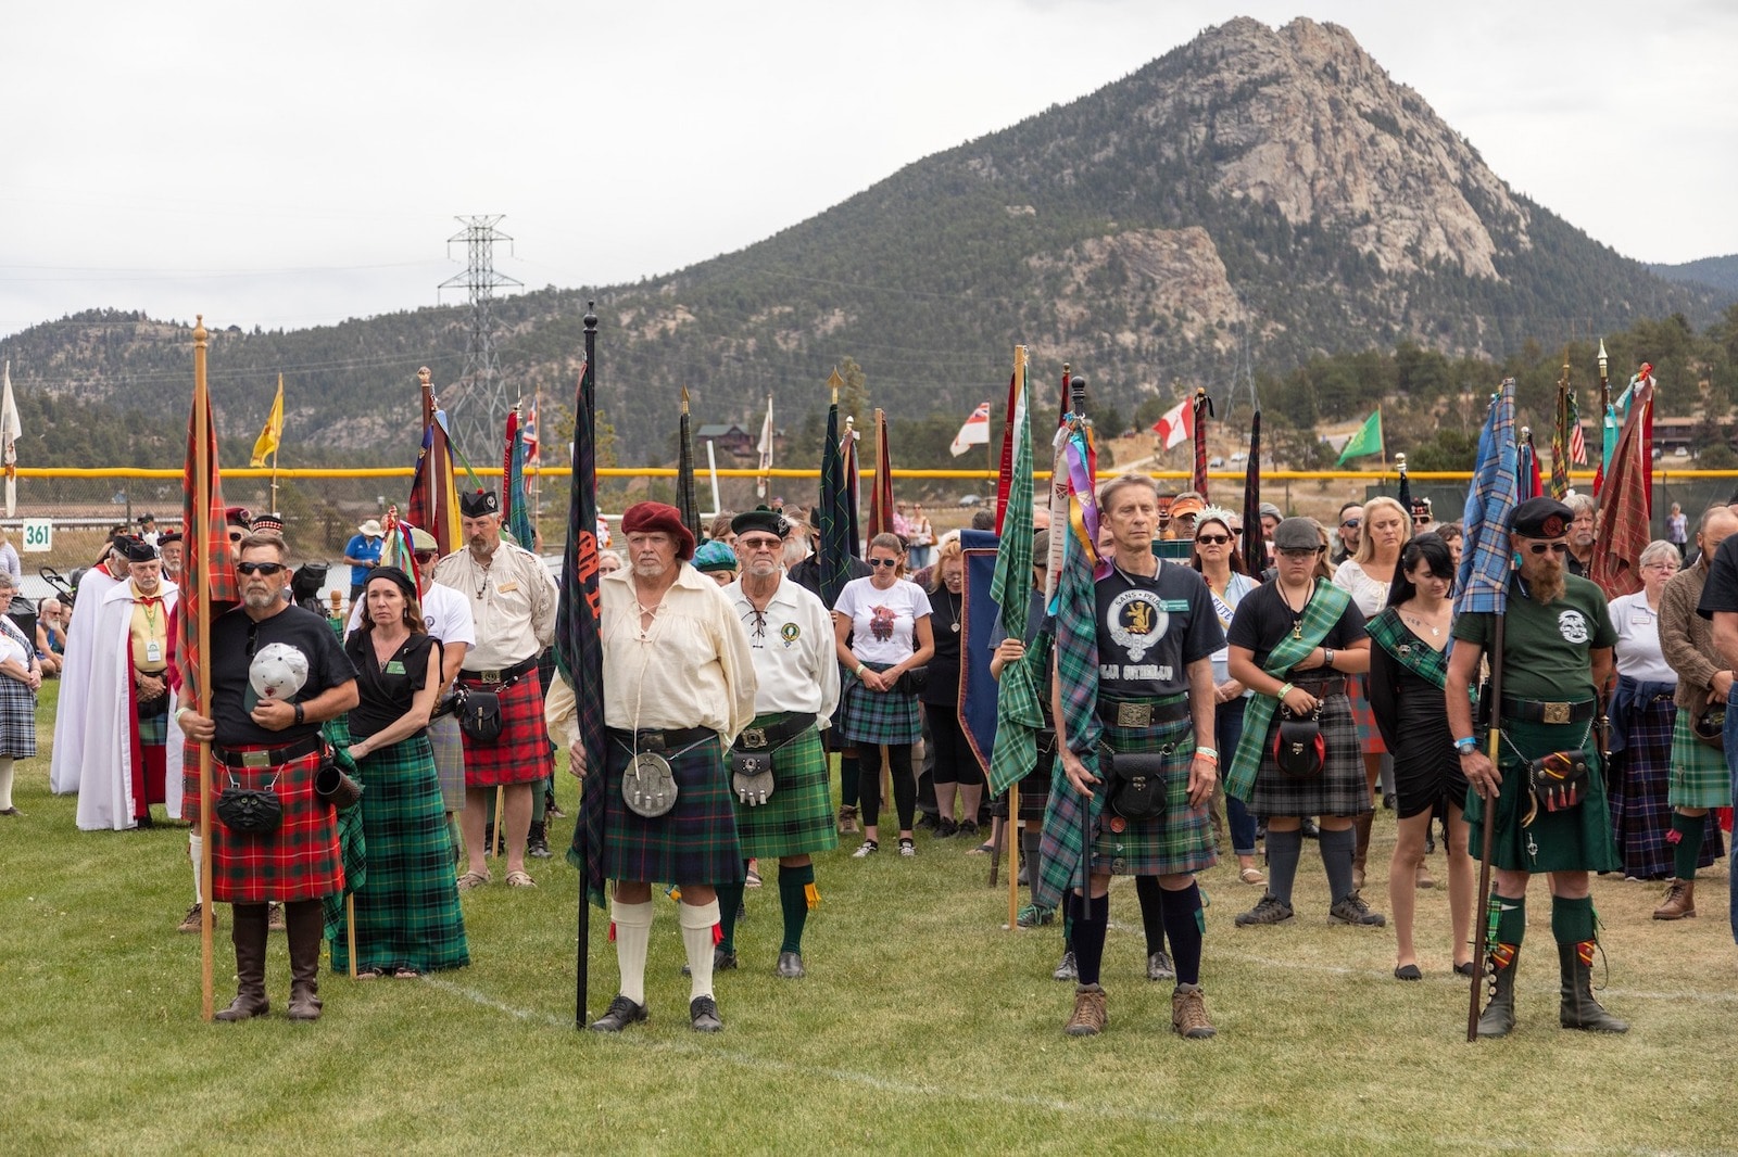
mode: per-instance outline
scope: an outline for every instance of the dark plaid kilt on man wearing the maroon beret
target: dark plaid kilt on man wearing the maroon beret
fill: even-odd
[[[626,738],[610,731],[603,778],[596,783],[596,777],[586,780],[587,792],[603,792],[603,879],[674,884],[747,879],[730,768],[718,737],[674,757],[666,756],[676,777],[676,806],[655,820],[634,815],[622,799],[622,773],[633,759]]]

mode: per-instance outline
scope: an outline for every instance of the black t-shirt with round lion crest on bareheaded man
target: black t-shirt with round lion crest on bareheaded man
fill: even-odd
[[[1098,693],[1152,698],[1189,690],[1187,665],[1225,646],[1201,575],[1159,561],[1152,578],[1112,566],[1095,585]]]

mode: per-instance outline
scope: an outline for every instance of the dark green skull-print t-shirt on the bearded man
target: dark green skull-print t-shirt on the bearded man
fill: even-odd
[[[1562,598],[1540,606],[1522,598],[1517,584],[1519,577],[1509,580],[1503,615],[1503,697],[1571,704],[1594,698],[1589,653],[1618,641],[1606,592],[1587,578],[1564,575]],[[1489,655],[1495,625],[1495,615],[1462,615],[1455,620],[1455,638],[1477,643]]]

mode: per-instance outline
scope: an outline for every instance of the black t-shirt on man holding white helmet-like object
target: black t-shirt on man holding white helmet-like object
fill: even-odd
[[[337,636],[322,615],[301,606],[285,606],[257,624],[240,608],[222,615],[212,624],[212,719],[217,723],[219,747],[245,744],[285,747],[320,731],[320,724],[311,719],[282,731],[268,731],[254,723],[250,712],[259,695],[249,683],[249,665],[273,643],[299,651],[308,662],[308,681],[294,695],[282,697],[289,704],[306,704],[356,678],[355,667],[349,665]]]

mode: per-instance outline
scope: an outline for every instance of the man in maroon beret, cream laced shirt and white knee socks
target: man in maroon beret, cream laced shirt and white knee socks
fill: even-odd
[[[718,1032],[713,995],[713,929],[718,886],[746,879],[725,749],[754,717],[754,660],[723,587],[683,563],[693,535],[662,502],[622,514],[627,566],[598,582],[603,634],[605,766],[580,797],[586,889],[603,902],[615,881],[610,921],[622,987],[591,1027],[620,1032],[647,1020],[647,947],[652,883],[681,891],[678,921],[688,957],[688,1021]],[[570,691],[567,681],[556,688]],[[551,695],[551,717],[565,717]],[[570,695],[568,695],[570,700]],[[587,773],[584,749],[568,740],[568,766]]]

